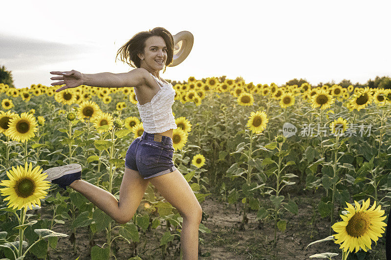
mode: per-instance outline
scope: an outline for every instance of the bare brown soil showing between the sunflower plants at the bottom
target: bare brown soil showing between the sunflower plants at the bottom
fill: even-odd
[[[316,197],[320,197],[316,194]],[[202,223],[211,230],[211,233],[199,232],[199,256],[200,260],[295,260],[309,259],[309,256],[316,253],[334,252],[339,253],[336,258],[341,259],[341,249],[339,245],[332,241],[321,242],[305,247],[312,241],[320,240],[329,235],[329,219],[321,218],[314,210],[320,198],[315,198],[311,192],[303,192],[296,199],[293,198],[299,206],[299,213],[293,215],[286,212],[283,219],[287,220],[287,227],[284,232],[277,232],[277,245],[273,247],[274,228],[273,222],[259,222],[256,220],[256,211],[247,213],[248,223],[245,230],[240,231],[239,226],[242,220],[242,203],[228,204],[224,201],[214,199],[208,196],[201,203],[203,209]],[[265,200],[267,203],[267,200]],[[50,212],[44,212],[40,209],[42,218],[50,219]],[[339,220],[339,217],[338,217]],[[69,221],[65,221],[65,226],[70,226]],[[56,226],[54,231],[71,235],[70,228],[64,228],[64,225]],[[134,252],[134,246],[128,244],[123,239],[116,239],[112,244],[112,250],[116,251],[117,260],[128,260],[138,255],[143,260],[159,259],[179,259],[180,240],[175,236],[174,241],[170,242],[167,248],[167,254],[163,258],[162,248],[159,247],[160,239],[166,231],[165,221],[157,229],[151,229],[146,233],[140,231],[140,243]],[[174,233],[174,230],[172,230]],[[118,232],[113,231],[114,238]],[[89,250],[89,230],[88,227],[79,228],[76,235],[77,254],[73,254],[73,247],[67,238],[61,238],[58,241],[56,249],[50,248],[49,258],[55,260],[79,260],[91,259]],[[106,242],[105,232],[94,236],[95,244],[102,246]],[[385,240],[381,238],[377,245],[372,243],[372,250],[364,259],[385,260]],[[352,256],[358,259],[356,256]],[[28,259],[28,258],[27,258]],[[26,259],[26,260],[27,260]],[[32,259],[32,258],[30,258]],[[114,258],[112,258],[114,259]]]

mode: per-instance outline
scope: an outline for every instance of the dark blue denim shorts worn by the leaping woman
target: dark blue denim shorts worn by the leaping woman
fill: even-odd
[[[171,173],[176,170],[174,151],[170,137],[144,131],[142,136],[130,144],[125,156],[125,167],[138,171],[144,179]]]

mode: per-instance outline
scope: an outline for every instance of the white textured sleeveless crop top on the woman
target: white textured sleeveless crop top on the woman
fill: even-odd
[[[150,73],[152,75],[152,73]],[[140,105],[137,100],[137,108],[143,122],[144,131],[150,134],[162,133],[170,129],[176,129],[172,105],[174,104],[175,90],[171,83],[164,83],[155,76],[152,77],[161,85],[159,91],[148,103]]]

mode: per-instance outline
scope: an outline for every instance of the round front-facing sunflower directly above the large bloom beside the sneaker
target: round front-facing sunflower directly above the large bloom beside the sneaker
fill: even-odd
[[[24,142],[35,136],[38,124],[33,115],[23,112],[21,116],[17,114],[11,119],[8,126],[9,136],[13,140]]]

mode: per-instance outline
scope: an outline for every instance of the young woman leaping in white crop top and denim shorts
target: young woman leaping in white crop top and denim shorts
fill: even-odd
[[[137,108],[143,122],[144,133],[136,138],[126,154],[125,173],[119,200],[111,193],[85,180],[81,180],[81,165],[72,163],[47,169],[47,180],[83,194],[98,208],[118,223],[127,223],[138,208],[149,181],[170,202],[183,218],[181,248],[185,260],[197,259],[198,227],[202,209],[188,182],[173,162],[173,129],[176,128],[172,104],[175,91],[171,83],[159,76],[173,61],[174,39],[161,27],[134,35],[117,53],[121,60],[129,58],[135,67],[127,73],[109,72],[82,74],[78,71],[52,71],[52,85],[65,86],[62,91],[82,84],[94,87],[134,87]]]

